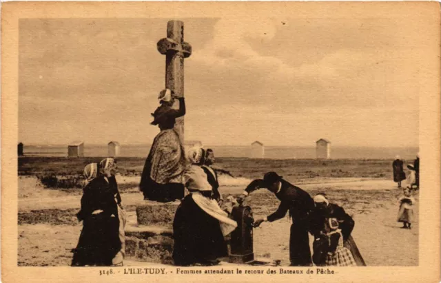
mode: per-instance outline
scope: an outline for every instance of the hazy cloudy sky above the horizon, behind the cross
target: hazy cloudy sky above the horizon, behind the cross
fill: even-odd
[[[185,138],[205,145],[418,146],[427,39],[409,19],[183,19]],[[152,143],[167,19],[25,19],[25,144]]]

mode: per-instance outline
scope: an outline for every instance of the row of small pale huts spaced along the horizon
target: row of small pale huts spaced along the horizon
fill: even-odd
[[[185,147],[202,146],[202,143],[197,140],[189,140],[185,142]],[[23,156],[23,143],[18,146],[19,156]],[[107,155],[116,157],[121,154],[121,144],[117,141],[111,140],[107,143]],[[84,142],[76,141],[68,145],[69,157],[83,157],[84,156]],[[265,145],[256,140],[251,144],[250,158],[264,158]],[[327,159],[331,158],[331,142],[325,138],[320,138],[316,141],[316,158]]]

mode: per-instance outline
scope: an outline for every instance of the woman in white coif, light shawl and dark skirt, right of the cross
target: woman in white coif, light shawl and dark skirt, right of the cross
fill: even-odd
[[[174,217],[173,259],[178,266],[218,264],[218,259],[228,255],[224,236],[237,227],[237,223],[229,219],[212,198],[212,186],[200,167],[203,156],[203,149],[189,152],[192,165],[184,174],[189,194]]]

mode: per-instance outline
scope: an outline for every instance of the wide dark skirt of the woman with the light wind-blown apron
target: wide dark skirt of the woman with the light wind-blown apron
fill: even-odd
[[[176,210],[173,237],[173,260],[178,266],[204,264],[228,255],[219,221],[198,207],[191,194]]]

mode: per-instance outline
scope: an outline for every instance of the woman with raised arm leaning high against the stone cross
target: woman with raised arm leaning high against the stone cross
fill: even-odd
[[[182,173],[185,168],[183,145],[174,130],[176,118],[185,115],[185,101],[177,98],[179,109],[173,109],[175,95],[163,90],[158,96],[161,106],[152,114],[152,125],[158,125],[161,132],[153,140],[150,153],[145,160],[139,188],[145,200],[169,202],[184,197]]]

